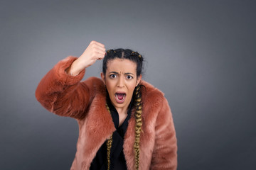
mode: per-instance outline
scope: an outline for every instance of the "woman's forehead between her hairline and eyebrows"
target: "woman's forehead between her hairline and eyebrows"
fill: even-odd
[[[107,62],[107,72],[132,72],[135,73],[137,64],[127,59],[113,59]]]

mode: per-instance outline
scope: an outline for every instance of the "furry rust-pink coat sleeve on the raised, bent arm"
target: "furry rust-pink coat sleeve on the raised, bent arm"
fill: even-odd
[[[92,98],[92,83],[80,83],[85,70],[77,76],[66,74],[65,69],[76,59],[69,56],[55,64],[38,84],[36,99],[52,113],[81,119]]]

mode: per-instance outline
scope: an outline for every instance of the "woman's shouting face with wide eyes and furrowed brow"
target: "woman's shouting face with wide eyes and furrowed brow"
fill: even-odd
[[[107,86],[110,100],[115,108],[128,108],[135,87],[142,79],[137,77],[137,64],[127,59],[116,58],[107,62],[107,70],[102,80]]]

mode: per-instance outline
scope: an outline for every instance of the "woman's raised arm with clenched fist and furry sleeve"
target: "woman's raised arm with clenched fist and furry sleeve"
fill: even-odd
[[[92,41],[79,58],[70,56],[61,60],[38,84],[37,100],[55,114],[83,118],[96,89],[93,88],[92,79],[82,83],[80,80],[85,68],[104,56],[104,45]]]

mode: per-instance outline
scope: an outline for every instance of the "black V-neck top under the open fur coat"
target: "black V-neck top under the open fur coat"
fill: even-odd
[[[122,125],[119,125],[119,115],[117,110],[114,108],[110,101],[110,97],[107,96],[107,105],[110,108],[110,113],[114,122],[114,127],[116,130],[113,132],[112,136],[112,147],[110,150],[110,169],[123,170],[127,169],[126,161],[124,159],[123,145],[124,145],[124,134],[127,131],[128,120],[131,117],[132,103],[129,103],[127,118],[125,118]],[[107,140],[103,143],[100,149],[97,151],[95,158],[92,160],[90,165],[90,170],[105,170],[107,169]]]

